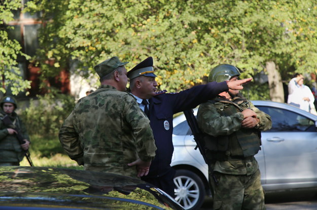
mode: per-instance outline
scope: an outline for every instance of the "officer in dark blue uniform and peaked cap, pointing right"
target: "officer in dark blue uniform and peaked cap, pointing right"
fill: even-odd
[[[209,82],[179,93],[157,92],[153,59],[149,57],[128,72],[130,90],[139,107],[148,115],[157,147],[148,176],[142,177],[172,197],[174,197],[173,178],[175,171],[170,162],[173,154],[173,114],[195,108],[197,105],[216,97],[228,89],[241,90],[243,83],[252,78],[233,82]]]

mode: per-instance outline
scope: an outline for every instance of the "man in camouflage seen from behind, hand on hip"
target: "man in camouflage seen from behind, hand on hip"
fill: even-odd
[[[142,177],[149,172],[156,146],[149,119],[124,92],[126,63],[112,57],[94,67],[101,86],[78,101],[59,140],[85,170]]]

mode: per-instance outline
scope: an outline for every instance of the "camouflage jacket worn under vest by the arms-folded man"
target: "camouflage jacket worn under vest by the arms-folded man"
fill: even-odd
[[[256,112],[257,118],[260,119],[259,125],[254,129],[265,131],[271,128],[272,122],[269,115],[256,108],[250,101],[246,101],[243,97],[240,99],[244,102],[239,105],[221,97],[201,104],[197,114],[197,122],[201,131],[220,139],[222,136],[235,135],[237,131],[242,129],[241,121],[243,120],[243,114],[241,110],[248,108],[249,104],[250,108]],[[236,113],[230,116],[224,116],[222,111],[223,109],[229,108],[229,106],[235,106]],[[258,141],[258,139],[255,139],[255,141]],[[210,158],[208,157],[210,155],[208,151],[206,155],[207,159]],[[210,167],[214,171],[225,174],[251,175],[258,170],[259,166],[256,159],[251,156],[241,159],[229,158],[228,160],[217,160],[216,162],[210,162]]]

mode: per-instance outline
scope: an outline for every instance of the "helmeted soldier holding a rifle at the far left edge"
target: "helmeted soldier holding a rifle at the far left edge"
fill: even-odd
[[[26,129],[15,112],[17,101],[12,96],[4,96],[0,101],[0,118],[8,116],[12,125],[6,125],[0,120],[0,165],[20,165],[20,161],[24,157],[24,150],[30,145],[30,140]],[[24,144],[20,144],[16,134],[20,131],[24,138]]]

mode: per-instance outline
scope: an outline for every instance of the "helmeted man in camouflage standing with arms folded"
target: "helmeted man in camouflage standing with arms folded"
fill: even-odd
[[[209,81],[234,81],[240,75],[232,65],[210,71]],[[229,89],[200,105],[199,128],[205,133],[209,182],[214,191],[213,209],[265,209],[259,165],[254,155],[261,145],[261,131],[271,128],[269,115],[239,91]]]

